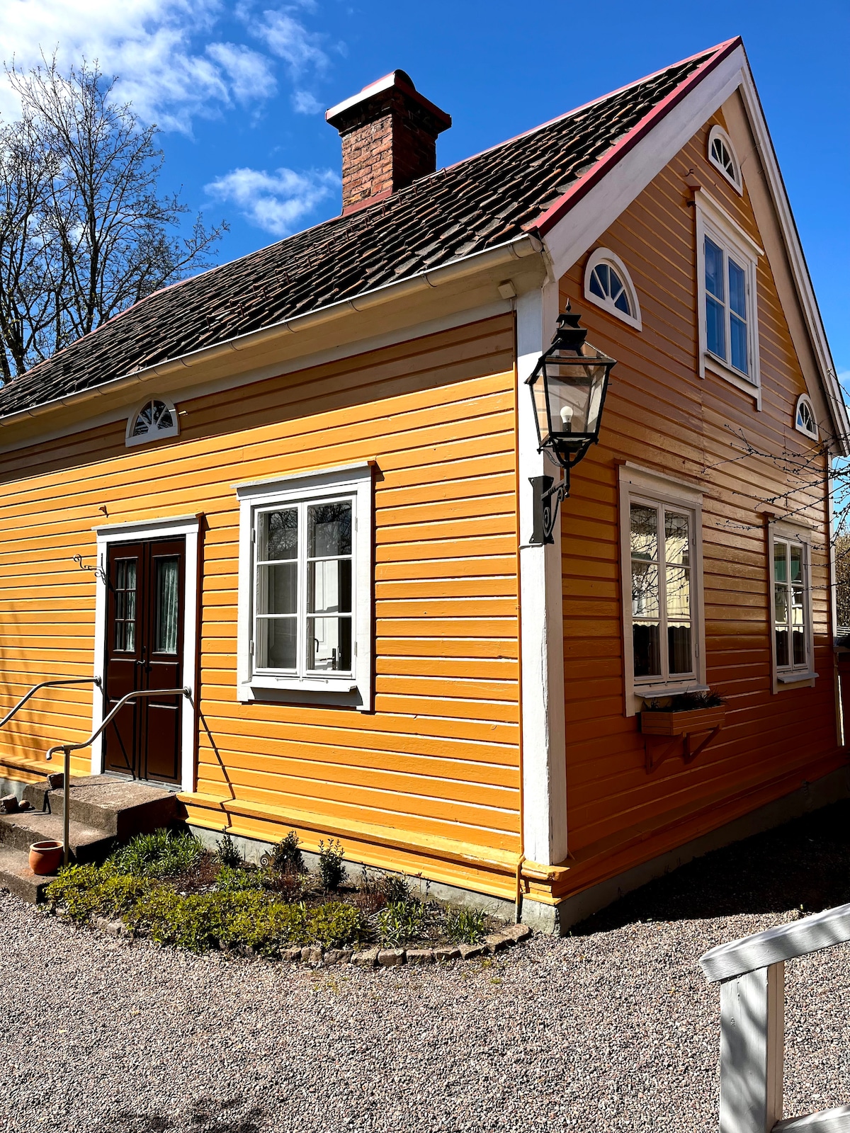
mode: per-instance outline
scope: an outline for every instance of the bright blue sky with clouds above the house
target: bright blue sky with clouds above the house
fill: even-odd
[[[740,34],[836,368],[850,372],[850,5],[537,0],[3,0],[0,43],[97,58],[164,128],[164,188],[231,259],[339,211],[325,108],[393,68],[453,118],[439,164]],[[0,110],[12,112],[0,91]],[[850,374],[849,374],[850,376]]]

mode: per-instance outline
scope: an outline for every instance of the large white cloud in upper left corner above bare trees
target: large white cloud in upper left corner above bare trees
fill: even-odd
[[[222,12],[222,0],[1,0],[0,43],[6,62],[23,68],[54,50],[66,66],[96,60],[120,76],[118,94],[143,120],[188,133],[196,114],[274,91],[265,57],[232,43],[204,45]],[[0,111],[16,111],[6,86]]]

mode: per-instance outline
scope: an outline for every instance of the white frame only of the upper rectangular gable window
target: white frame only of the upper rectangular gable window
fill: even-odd
[[[756,409],[762,408],[762,381],[758,363],[758,257],[764,249],[743,231],[705,189],[695,194],[696,233],[697,233],[697,320],[699,326],[699,376],[706,372],[717,374],[726,382],[748,393],[755,399]],[[729,272],[725,270],[726,257],[743,269],[747,281],[747,364],[749,374],[737,370],[725,359],[712,353],[706,338],[706,290],[705,290],[705,238],[708,237],[724,253],[724,283],[729,291]],[[726,324],[729,323],[729,296],[725,301]],[[729,341],[729,333],[726,333]]]

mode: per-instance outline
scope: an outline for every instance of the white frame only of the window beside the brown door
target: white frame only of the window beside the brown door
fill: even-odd
[[[239,500],[239,599],[237,698],[301,700],[372,709],[373,668],[373,467],[374,461],[341,468],[296,472],[273,480],[233,485]],[[352,508],[351,539],[351,672],[301,674],[257,672],[254,659],[254,564],[257,517],[270,508],[348,500]],[[304,556],[299,537],[299,593]],[[301,603],[303,605],[303,603]],[[298,617],[306,616],[304,610]]]

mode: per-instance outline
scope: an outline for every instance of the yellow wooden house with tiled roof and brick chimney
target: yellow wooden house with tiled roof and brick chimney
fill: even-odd
[[[740,40],[447,169],[403,71],[326,117],[340,216],[0,389],[0,715],[80,682],[5,785],[129,697],[75,774],[551,929],[845,794],[850,429]]]

